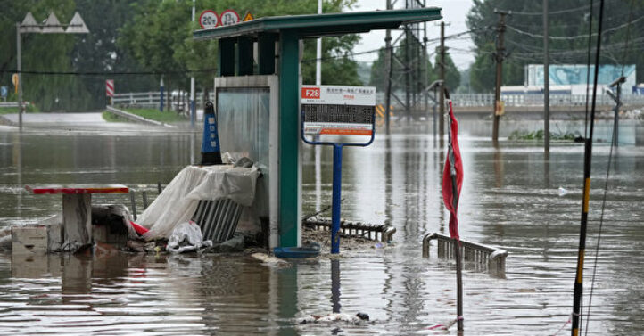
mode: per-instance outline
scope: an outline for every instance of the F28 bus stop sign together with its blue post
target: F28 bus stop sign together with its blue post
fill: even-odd
[[[343,147],[365,147],[376,134],[376,88],[370,86],[302,86],[301,138],[309,144],[334,146],[331,253],[340,253],[340,196]],[[310,136],[312,139],[307,139]]]

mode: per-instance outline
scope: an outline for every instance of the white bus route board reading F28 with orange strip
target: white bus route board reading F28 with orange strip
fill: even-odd
[[[303,135],[374,135],[376,87],[302,86]]]

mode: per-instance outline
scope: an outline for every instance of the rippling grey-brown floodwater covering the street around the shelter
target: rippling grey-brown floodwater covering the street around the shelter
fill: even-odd
[[[502,141],[494,148],[487,137],[468,131],[478,127],[462,124],[460,233],[508,250],[508,259],[504,278],[466,264],[466,334],[552,335],[562,328],[559,334],[567,334],[582,145],[553,143],[548,159],[540,143]],[[245,256],[0,255],[0,334],[442,334],[427,328],[454,318],[455,276],[454,264],[436,258],[435,250],[421,258],[423,235],[447,231],[444,154],[427,128],[378,134],[370,147],[344,150],[343,217],[390,222],[397,228],[392,245],[285,268]],[[194,152],[199,156],[194,140],[181,132],[0,131],[0,225],[36,221],[60,209],[58,196],[30,195],[23,192],[25,184],[121,183],[154,195],[158,181],[167,184],[194,161]],[[608,154],[606,143],[596,144],[584,307],[595,270]],[[303,157],[303,212],[310,213],[330,203],[333,154],[306,147]],[[589,334],[642,334],[644,149],[622,146],[612,160]],[[567,192],[563,196],[560,187]],[[128,204],[127,195],[94,200]],[[334,310],[364,312],[372,322],[298,324],[303,316]]]

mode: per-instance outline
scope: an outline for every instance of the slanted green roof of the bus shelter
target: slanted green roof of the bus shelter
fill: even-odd
[[[231,26],[200,29],[194,38],[224,38],[301,29],[300,37],[325,37],[365,32],[373,29],[396,29],[402,24],[441,20],[441,8],[415,8],[375,12],[335,12],[313,15],[266,17]]]

